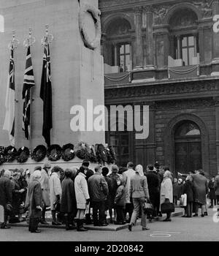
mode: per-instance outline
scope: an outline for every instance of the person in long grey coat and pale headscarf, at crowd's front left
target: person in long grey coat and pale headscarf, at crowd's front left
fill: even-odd
[[[42,217],[42,189],[39,182],[41,177],[40,170],[35,170],[33,179],[28,185],[28,206],[29,206],[29,231],[40,233],[37,229],[39,219]]]

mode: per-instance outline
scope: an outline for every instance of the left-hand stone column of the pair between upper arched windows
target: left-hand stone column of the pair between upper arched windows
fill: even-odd
[[[135,18],[135,33],[136,41],[134,52],[134,69],[142,68],[143,66],[143,49],[142,49],[142,7],[134,8]]]

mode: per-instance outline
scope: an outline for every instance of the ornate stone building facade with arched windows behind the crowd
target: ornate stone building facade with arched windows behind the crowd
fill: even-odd
[[[100,0],[105,105],[149,105],[150,132],[107,132],[118,164],[219,167],[218,0]]]

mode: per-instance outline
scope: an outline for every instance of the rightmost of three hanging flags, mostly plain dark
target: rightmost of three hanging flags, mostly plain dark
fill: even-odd
[[[47,146],[50,146],[50,129],[53,128],[53,113],[52,113],[52,84],[50,75],[50,46],[45,44],[40,97],[43,101],[43,126],[42,135],[45,138]]]

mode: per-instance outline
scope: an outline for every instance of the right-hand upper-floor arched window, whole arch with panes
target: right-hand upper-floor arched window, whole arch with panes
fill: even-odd
[[[198,17],[193,10],[183,8],[169,19],[172,35],[172,57],[182,59],[183,66],[199,64]]]

